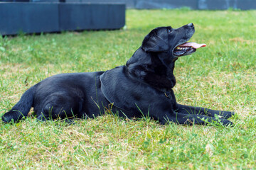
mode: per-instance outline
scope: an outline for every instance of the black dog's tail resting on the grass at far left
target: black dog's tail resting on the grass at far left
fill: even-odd
[[[12,120],[16,123],[18,120],[21,120],[21,118],[26,117],[33,105],[35,89],[36,86],[31,86],[31,88],[21,96],[20,101],[11,108],[11,111],[4,113],[1,120],[4,121],[4,123],[9,123]]]

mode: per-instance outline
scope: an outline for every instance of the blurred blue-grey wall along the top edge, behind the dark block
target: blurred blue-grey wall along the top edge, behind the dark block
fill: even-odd
[[[255,9],[255,0],[0,0],[14,2],[124,3],[127,8]]]

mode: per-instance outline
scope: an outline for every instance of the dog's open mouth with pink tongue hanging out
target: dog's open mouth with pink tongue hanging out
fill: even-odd
[[[196,42],[185,42],[181,45],[178,45],[174,49],[174,56],[180,57],[183,55],[191,55],[193,52],[196,52],[196,49],[200,47],[206,47],[206,44],[198,44]]]

